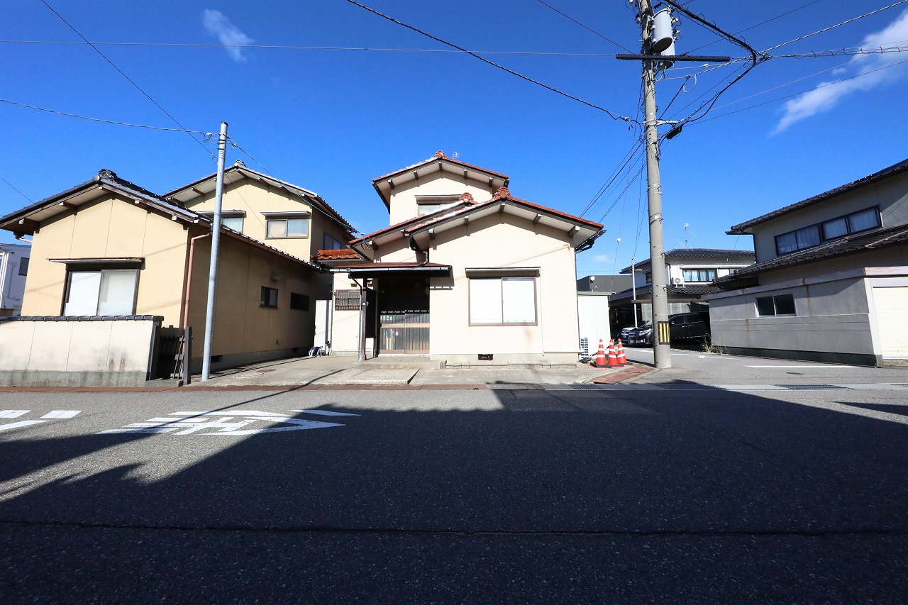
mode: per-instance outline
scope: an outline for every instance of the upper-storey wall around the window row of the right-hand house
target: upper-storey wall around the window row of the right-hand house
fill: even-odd
[[[863,208],[880,206],[883,227],[908,223],[908,174],[897,174],[879,183],[837,195],[803,210],[788,213],[751,228],[758,263],[775,258],[775,236],[800,227],[822,223]]]

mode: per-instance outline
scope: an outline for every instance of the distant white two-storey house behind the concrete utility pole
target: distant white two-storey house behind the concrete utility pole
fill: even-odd
[[[734,273],[754,263],[749,250],[716,250],[713,248],[676,248],[666,252],[666,283],[668,313],[706,311],[708,305],[701,297],[719,292],[710,285],[714,280]],[[611,308],[612,332],[653,319],[652,273],[649,259],[625,267],[621,273],[632,273],[636,286],[608,298]],[[635,298],[636,294],[636,298]]]

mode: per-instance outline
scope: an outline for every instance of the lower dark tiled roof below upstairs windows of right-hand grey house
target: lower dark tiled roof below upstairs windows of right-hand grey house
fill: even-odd
[[[862,253],[906,242],[908,242],[908,225],[904,224],[885,229],[877,229],[871,233],[846,235],[833,242],[823,243],[814,246],[813,248],[799,250],[798,252],[778,256],[768,261],[764,261],[763,263],[752,264],[749,267],[738,269],[735,273],[724,275],[713,283],[726,286],[743,277],[756,275],[757,273],[763,273],[765,271],[772,271],[773,269],[781,269],[797,264],[813,263],[814,261],[823,261],[827,258],[843,256],[844,254]]]

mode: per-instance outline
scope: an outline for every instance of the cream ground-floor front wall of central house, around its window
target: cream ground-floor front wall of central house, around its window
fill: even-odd
[[[502,245],[507,242],[508,245]],[[450,278],[429,285],[429,346],[433,359],[476,362],[492,353],[498,362],[577,362],[577,282],[568,236],[510,214],[498,214],[439,233],[432,263],[449,264]],[[537,325],[470,326],[466,270],[539,267]]]

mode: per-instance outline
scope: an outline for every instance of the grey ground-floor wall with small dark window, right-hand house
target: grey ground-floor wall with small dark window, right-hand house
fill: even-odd
[[[809,361],[880,362],[864,270],[705,296],[713,343],[728,352]],[[755,299],[791,293],[795,316],[758,317]]]

